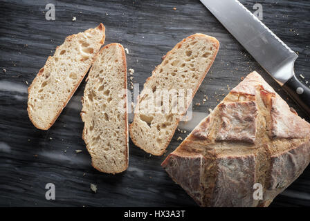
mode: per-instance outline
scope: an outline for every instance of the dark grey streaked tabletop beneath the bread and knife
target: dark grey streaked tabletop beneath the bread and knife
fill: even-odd
[[[47,3],[55,4],[55,21],[45,19]],[[262,4],[263,22],[298,52],[296,76],[304,83],[310,81],[310,2],[241,3],[251,12],[255,3]],[[105,44],[118,42],[128,48],[127,68],[135,70],[133,82],[140,84],[140,89],[161,57],[181,39],[201,32],[219,40],[215,63],[193,99],[193,104],[200,102],[201,106],[193,106],[197,117],[192,126],[253,70],[309,121],[200,1],[16,0],[0,1],[0,7],[0,206],[197,206],[160,166],[181,143],[177,138],[185,138],[191,126],[180,125],[189,131],[176,131],[161,157],[145,153],[129,140],[129,168],[107,175],[93,169],[81,138],[84,81],[50,130],[39,131],[28,119],[27,88],[48,55],[53,55],[67,35],[100,22],[106,28]],[[208,95],[205,104],[203,95]],[[271,206],[310,206],[309,180],[308,166]],[[45,199],[49,182],[55,184],[56,200]],[[97,193],[91,191],[91,183],[97,185]]]

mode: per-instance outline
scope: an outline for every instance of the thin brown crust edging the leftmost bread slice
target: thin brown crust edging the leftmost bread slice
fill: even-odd
[[[100,23],[96,28],[99,28],[100,30],[102,30],[103,33],[105,32],[105,28],[104,28],[104,25],[103,25],[102,23]],[[91,30],[91,28],[89,28],[89,29],[86,30],[85,32],[89,32],[90,30]],[[66,37],[66,39],[71,39],[74,35],[76,35],[76,34],[70,35],[70,36]],[[102,37],[102,39],[101,39],[101,41],[100,41],[100,44],[104,44],[104,39],[105,39],[105,35],[103,35],[103,37]],[[58,46],[57,46],[57,48],[58,48]],[[97,53],[97,55],[98,55],[98,53]],[[95,61],[95,57],[96,57],[97,55],[95,55],[95,56],[93,57],[93,61]],[[48,57],[48,60],[51,59],[51,58],[52,58],[52,57],[49,56],[49,57]],[[48,60],[47,60],[47,61],[48,61]],[[47,63],[47,61],[46,61],[46,63]],[[37,123],[35,122],[35,120],[33,119],[33,116],[31,115],[31,113],[30,113],[30,111],[29,111],[29,107],[27,106],[28,117],[29,117],[30,121],[33,123],[33,125],[34,125],[36,128],[38,128],[38,129],[40,129],[40,130],[46,131],[46,130],[48,130],[49,128],[51,128],[51,126],[53,126],[53,124],[55,123],[56,119],[60,116],[60,113],[62,113],[62,111],[63,111],[64,108],[66,107],[66,104],[68,104],[69,100],[71,99],[71,97],[73,96],[73,94],[75,93],[75,91],[78,89],[78,86],[80,86],[80,84],[81,84],[82,80],[84,79],[86,73],[88,73],[89,68],[91,68],[91,65],[93,64],[93,61],[91,62],[91,64],[89,64],[89,66],[88,66],[87,70],[85,71],[84,75],[82,75],[83,77],[80,78],[80,80],[78,81],[78,84],[76,84],[75,88],[72,90],[71,94],[68,96],[68,99],[66,99],[66,101],[65,101],[64,104],[62,105],[62,108],[60,109],[60,111],[57,112],[57,114],[55,115],[55,117],[53,118],[53,120],[48,124],[48,126],[46,126],[46,127],[41,127],[41,126],[37,125]],[[45,65],[44,65],[44,67],[45,67]],[[44,68],[44,67],[43,67],[43,68]],[[43,72],[42,72],[42,68],[41,68],[41,69],[39,70],[39,73],[37,73],[37,76],[42,75],[42,73],[43,73]],[[33,87],[33,85],[35,84],[36,81],[37,81],[37,77],[35,77],[35,79],[33,80],[33,83],[30,84],[30,86],[28,87],[28,100],[29,100],[29,97],[30,97],[29,91],[31,90],[31,88]]]

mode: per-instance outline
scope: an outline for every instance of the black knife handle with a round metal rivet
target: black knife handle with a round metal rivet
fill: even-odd
[[[310,116],[310,89],[302,84],[295,75],[286,81],[282,87]]]

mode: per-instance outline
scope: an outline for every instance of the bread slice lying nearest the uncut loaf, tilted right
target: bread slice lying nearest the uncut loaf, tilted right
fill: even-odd
[[[136,146],[153,155],[164,153],[218,50],[217,39],[195,34],[167,52],[138,97],[129,126]]]

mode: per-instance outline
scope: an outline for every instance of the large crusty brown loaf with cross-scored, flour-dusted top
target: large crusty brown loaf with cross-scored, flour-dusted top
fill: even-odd
[[[200,206],[268,206],[309,160],[310,124],[253,72],[162,166]]]

